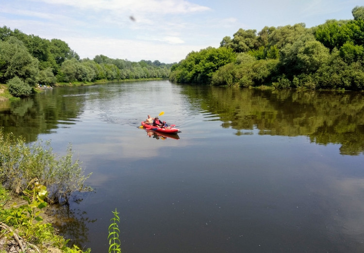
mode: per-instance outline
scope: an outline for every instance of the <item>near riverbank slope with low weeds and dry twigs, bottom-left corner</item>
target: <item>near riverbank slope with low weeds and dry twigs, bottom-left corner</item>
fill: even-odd
[[[47,205],[40,210],[33,205],[0,185],[0,253],[89,253],[75,245],[68,247],[68,240],[59,235],[56,227],[62,218],[53,213],[61,207]],[[29,215],[35,219],[30,221]],[[32,236],[27,236],[29,232]]]

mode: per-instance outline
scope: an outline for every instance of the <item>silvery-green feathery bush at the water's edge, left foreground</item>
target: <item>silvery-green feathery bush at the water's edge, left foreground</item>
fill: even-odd
[[[67,203],[75,191],[91,190],[84,185],[90,176],[83,175],[78,160],[72,160],[69,147],[63,157],[52,152],[50,142],[44,146],[38,141],[32,145],[14,135],[3,135],[0,129],[0,182],[14,193],[21,194],[36,178],[49,191],[48,202]]]

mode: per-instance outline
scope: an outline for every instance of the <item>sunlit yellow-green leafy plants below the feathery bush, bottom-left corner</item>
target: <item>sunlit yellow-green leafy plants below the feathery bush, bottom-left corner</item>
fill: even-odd
[[[0,200],[8,200],[8,196],[9,193],[0,186]],[[67,247],[69,240],[57,235],[50,223],[43,222],[41,209],[47,205],[44,201],[46,196],[46,187],[34,179],[32,184],[24,190],[25,203],[20,206],[14,203],[10,208],[0,206],[0,238],[2,238],[0,253],[10,252],[10,249],[14,247],[18,252],[23,253],[51,252],[54,249],[65,253],[83,253],[75,245],[72,248]],[[90,251],[87,249],[85,253]]]

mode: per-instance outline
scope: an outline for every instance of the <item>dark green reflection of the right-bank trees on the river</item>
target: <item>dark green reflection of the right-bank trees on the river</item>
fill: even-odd
[[[341,144],[340,153],[364,151],[364,96],[360,92],[256,90],[185,86],[191,101],[217,115],[236,135],[305,135],[314,143]],[[207,114],[208,120],[211,116]]]

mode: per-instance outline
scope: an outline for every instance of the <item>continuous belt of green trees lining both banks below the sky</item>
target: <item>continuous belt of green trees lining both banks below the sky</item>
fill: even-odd
[[[0,28],[0,84],[26,97],[36,84],[169,78],[177,83],[273,88],[364,89],[364,6],[354,19],[239,29],[219,48],[190,52],[178,64],[158,60],[80,59],[66,42]]]

